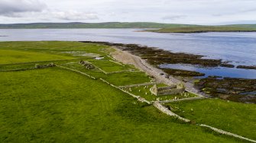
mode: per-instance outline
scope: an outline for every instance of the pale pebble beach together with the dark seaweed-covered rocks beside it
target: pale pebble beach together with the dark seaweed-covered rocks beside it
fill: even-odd
[[[208,78],[195,79],[190,73],[183,70],[173,71],[158,68],[157,65],[169,61],[169,57],[176,58],[171,62],[200,63],[203,66],[215,67],[221,64],[226,64],[221,60],[214,59],[200,59],[202,56],[190,55],[186,53],[172,53],[157,49],[154,47],[139,46],[136,44],[122,44],[122,43],[106,43],[106,42],[92,42],[86,41],[84,43],[97,43],[106,46],[112,46],[119,53],[115,53],[114,57],[118,61],[131,64],[145,71],[148,75],[155,77],[158,81],[166,84],[183,83],[187,91],[199,94],[203,97],[218,97],[222,100],[232,100],[240,103],[256,103],[256,79],[245,78],[227,78],[218,76],[210,76]],[[163,56],[163,55],[164,56]],[[199,59],[198,61],[194,59]],[[191,64],[191,63],[189,63]],[[169,68],[167,68],[169,69]],[[173,75],[174,73],[174,75]],[[185,74],[184,74],[185,73]],[[184,74],[184,76],[180,76]]]

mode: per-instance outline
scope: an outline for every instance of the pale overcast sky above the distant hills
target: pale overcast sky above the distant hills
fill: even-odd
[[[0,23],[256,24],[256,0],[0,0]]]

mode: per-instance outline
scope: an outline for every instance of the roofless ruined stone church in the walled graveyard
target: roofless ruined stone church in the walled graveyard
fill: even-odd
[[[157,84],[154,84],[150,89],[151,93],[160,96],[160,95],[170,95],[170,94],[182,94],[185,92],[184,84],[172,84],[168,87],[157,87]]]

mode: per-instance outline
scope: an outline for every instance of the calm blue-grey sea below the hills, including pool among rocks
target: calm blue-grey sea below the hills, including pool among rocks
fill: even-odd
[[[172,52],[187,52],[234,65],[256,65],[256,33],[150,33],[138,29],[0,30],[0,41],[66,40],[136,43]],[[185,68],[185,67],[184,67]],[[199,70],[199,69],[197,69]],[[206,75],[255,78],[254,71],[236,68],[200,69]],[[209,74],[208,74],[209,73]]]

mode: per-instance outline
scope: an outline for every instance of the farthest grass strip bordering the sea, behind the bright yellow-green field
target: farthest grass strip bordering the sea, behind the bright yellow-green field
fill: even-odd
[[[68,41],[20,41],[1,42],[0,49],[17,49],[31,52],[48,52],[60,56],[73,56],[83,58],[87,54],[97,56],[109,55],[114,49],[95,43],[80,43]],[[82,52],[83,54],[77,54]],[[84,56],[85,55],[85,56]]]

